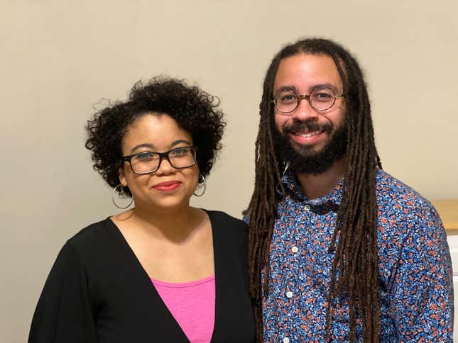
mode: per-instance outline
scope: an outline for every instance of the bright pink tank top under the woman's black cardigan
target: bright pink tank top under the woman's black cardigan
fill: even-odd
[[[214,327],[214,275],[185,283],[151,279],[168,310],[191,343],[208,343]]]

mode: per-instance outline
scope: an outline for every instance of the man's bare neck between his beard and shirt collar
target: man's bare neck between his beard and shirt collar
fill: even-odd
[[[346,160],[345,157],[339,159],[322,174],[296,174],[307,198],[316,199],[330,193],[344,177]]]

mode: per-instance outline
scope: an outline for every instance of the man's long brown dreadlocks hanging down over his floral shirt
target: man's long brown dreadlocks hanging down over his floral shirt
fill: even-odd
[[[347,162],[342,201],[337,212],[336,230],[329,250],[335,250],[327,301],[326,332],[329,338],[332,300],[342,293],[349,296],[349,339],[356,335],[356,311],[361,317],[364,342],[378,342],[378,247],[375,173],[381,168],[374,142],[371,106],[358,63],[343,47],[330,40],[306,39],[283,48],[273,58],[263,84],[259,132],[256,139],[256,181],[249,204],[250,293],[258,341],[263,337],[262,292],[268,292],[269,247],[278,208],[276,187],[288,161],[275,146],[273,83],[278,64],[298,54],[332,57],[337,66],[347,103]],[[261,270],[264,273],[263,284]],[[337,278],[339,275],[339,278]]]

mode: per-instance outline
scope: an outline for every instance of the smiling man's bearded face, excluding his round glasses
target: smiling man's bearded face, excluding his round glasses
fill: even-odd
[[[300,53],[283,59],[273,84],[273,94],[290,89],[295,94],[310,94],[325,86],[336,95],[343,93],[342,79],[334,60],[327,55]],[[344,125],[345,101],[337,98],[325,111],[317,111],[307,99],[292,113],[275,111],[276,127],[281,134],[277,145],[295,172],[321,174],[342,158],[347,150]]]

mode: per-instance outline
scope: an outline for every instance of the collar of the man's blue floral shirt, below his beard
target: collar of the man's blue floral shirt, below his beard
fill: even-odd
[[[339,181],[339,184],[337,184],[337,186],[335,186],[335,188],[330,193],[327,193],[325,196],[321,196],[320,198],[316,199],[307,198],[305,193],[302,191],[302,187],[299,184],[298,178],[289,169],[286,169],[283,173],[281,182],[283,184],[283,188],[285,189],[286,194],[290,194],[291,196],[300,198],[301,201],[309,203],[310,205],[322,205],[325,203],[333,203],[339,206],[340,201],[342,200],[342,187],[344,185],[343,178]],[[278,193],[281,194],[280,186],[278,186],[277,190]]]

